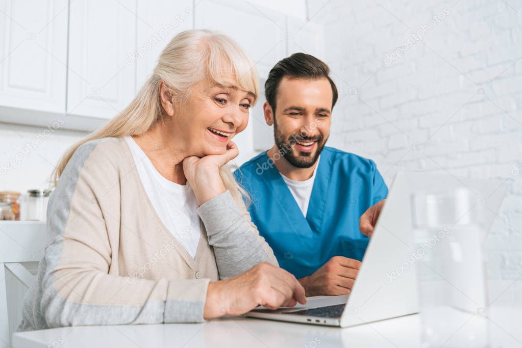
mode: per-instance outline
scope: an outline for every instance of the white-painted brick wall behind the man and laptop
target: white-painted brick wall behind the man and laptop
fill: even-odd
[[[444,8],[449,14],[423,40],[385,65],[386,53]],[[340,90],[329,145],[372,158],[388,184],[400,169],[508,179],[487,241],[489,275],[517,279],[522,1],[321,0],[309,1],[308,17],[325,26],[321,58]],[[416,142],[422,151],[410,151]]]

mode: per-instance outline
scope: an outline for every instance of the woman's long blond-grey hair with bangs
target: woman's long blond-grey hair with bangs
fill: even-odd
[[[209,79],[229,85],[230,82],[224,78],[231,74],[240,89],[255,95],[255,103],[259,95],[257,70],[238,43],[227,35],[210,30],[187,30],[177,34],[161,52],[152,76],[131,104],[103,128],[70,147],[54,170],[52,182],[56,185],[70,158],[82,144],[101,138],[141,135],[161,122],[160,81],[167,85],[173,104],[181,107],[196,82]],[[239,190],[247,197],[227,165],[221,168],[220,175],[227,190],[232,193]]]

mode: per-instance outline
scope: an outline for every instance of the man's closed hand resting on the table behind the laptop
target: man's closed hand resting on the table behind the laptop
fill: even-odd
[[[306,296],[345,295],[352,291],[361,262],[343,256],[334,256],[312,274],[299,279]]]

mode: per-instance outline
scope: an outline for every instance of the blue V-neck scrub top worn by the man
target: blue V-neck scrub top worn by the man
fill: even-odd
[[[333,256],[362,260],[370,239],[360,232],[359,218],[388,194],[371,159],[326,146],[306,218],[266,152],[234,176],[250,194],[248,211],[260,235],[296,278],[311,275]]]

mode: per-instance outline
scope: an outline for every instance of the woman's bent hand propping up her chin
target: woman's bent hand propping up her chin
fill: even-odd
[[[183,160],[183,172],[199,205],[226,191],[219,170],[238,155],[238,146],[229,141],[222,155],[189,156]]]

